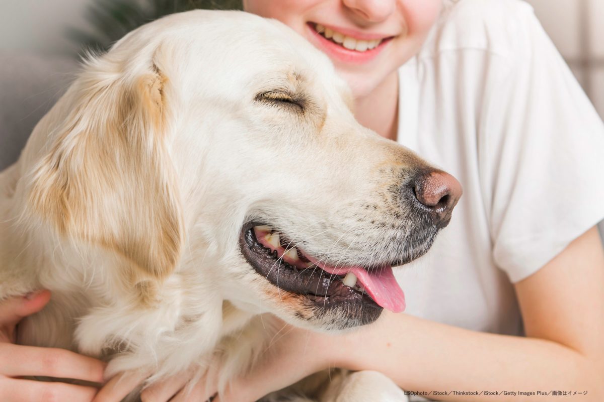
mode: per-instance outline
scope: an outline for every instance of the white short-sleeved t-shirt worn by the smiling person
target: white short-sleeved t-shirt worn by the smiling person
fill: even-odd
[[[399,78],[399,143],[464,189],[432,250],[395,269],[406,312],[521,334],[512,283],[604,218],[602,121],[519,0],[447,8]]]

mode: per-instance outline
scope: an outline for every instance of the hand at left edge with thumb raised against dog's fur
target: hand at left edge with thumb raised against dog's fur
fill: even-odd
[[[92,386],[24,380],[25,375],[74,378],[103,382],[105,363],[59,348],[16,345],[16,327],[23,318],[39,312],[50,300],[49,291],[13,297],[0,303],[0,400],[90,401]]]

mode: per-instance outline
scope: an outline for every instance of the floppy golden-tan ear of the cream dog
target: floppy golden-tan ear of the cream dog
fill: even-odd
[[[182,215],[167,147],[167,78],[89,63],[59,107],[28,206],[69,239],[109,248],[145,277],[178,263]],[[52,112],[51,112],[52,113]]]

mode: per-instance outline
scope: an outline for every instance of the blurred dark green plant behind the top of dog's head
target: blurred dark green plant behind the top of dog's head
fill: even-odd
[[[90,31],[70,30],[80,49],[106,51],[135,28],[167,14],[205,8],[241,10],[242,0],[97,0],[88,9]]]

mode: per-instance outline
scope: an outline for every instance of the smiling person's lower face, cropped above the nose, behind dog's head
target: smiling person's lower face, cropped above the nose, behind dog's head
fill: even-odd
[[[441,7],[442,0],[243,0],[246,11],[280,20],[327,54],[355,98],[417,54]]]

